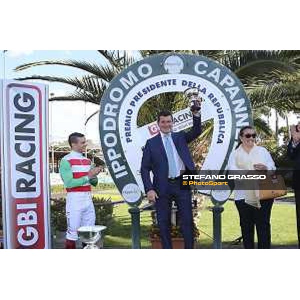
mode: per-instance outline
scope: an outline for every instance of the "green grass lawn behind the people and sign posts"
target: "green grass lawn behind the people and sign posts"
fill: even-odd
[[[111,196],[109,194],[101,194],[103,197]],[[113,201],[121,200],[117,194],[113,194]],[[212,212],[209,211],[212,203],[207,200],[201,215],[198,217],[197,223],[200,231],[200,238],[197,248],[212,248]],[[240,234],[238,213],[232,201],[228,201],[224,205],[222,214],[222,240],[223,248],[242,248],[232,246],[231,242],[238,238]],[[295,207],[290,204],[274,204],[272,210],[272,245],[273,248],[295,248],[296,224],[295,224]],[[142,248],[150,248],[149,227],[151,225],[150,212],[141,213],[141,246]],[[208,237],[208,236],[210,237]],[[105,248],[131,248],[131,221],[128,213],[128,205],[121,204],[114,208],[114,218],[109,226],[104,241]]]

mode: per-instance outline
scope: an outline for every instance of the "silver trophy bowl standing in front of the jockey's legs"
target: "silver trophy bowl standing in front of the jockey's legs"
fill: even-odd
[[[105,226],[86,226],[78,229],[78,236],[82,243],[86,244],[84,250],[98,250],[103,248],[102,234]],[[100,247],[96,243],[100,240]]]

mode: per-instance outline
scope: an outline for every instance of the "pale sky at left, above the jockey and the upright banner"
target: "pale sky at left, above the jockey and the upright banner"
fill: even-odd
[[[88,60],[95,63],[103,63],[101,56],[96,51],[7,51],[0,56],[0,78],[14,79],[29,75],[52,75],[62,77],[82,76],[84,71],[64,66],[38,66],[27,71],[15,72],[18,65],[40,60]],[[46,82],[42,82],[46,83]],[[73,90],[59,83],[46,83],[49,85],[49,93],[55,96],[68,94]],[[83,102],[50,102],[49,104],[49,138],[52,141],[66,140],[72,132],[85,133],[88,139],[99,143],[98,116],[93,117],[84,128],[86,118],[99,109],[98,105]]]

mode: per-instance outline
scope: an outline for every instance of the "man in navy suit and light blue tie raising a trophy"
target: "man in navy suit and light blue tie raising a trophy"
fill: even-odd
[[[160,239],[164,249],[172,249],[171,199],[177,204],[185,249],[193,248],[193,218],[190,189],[180,189],[180,170],[195,169],[188,143],[201,134],[199,111],[193,111],[193,128],[188,132],[173,133],[173,117],[168,111],[158,115],[160,133],[149,139],[143,150],[141,177],[147,198],[155,203]],[[153,182],[150,179],[153,173]],[[181,172],[182,174],[182,172]]]

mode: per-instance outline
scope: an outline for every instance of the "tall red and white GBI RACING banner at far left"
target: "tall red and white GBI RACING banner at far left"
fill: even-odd
[[[0,100],[4,245],[48,249],[48,89],[2,81]]]

